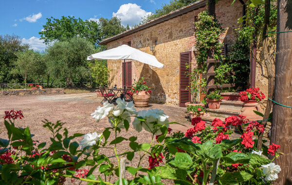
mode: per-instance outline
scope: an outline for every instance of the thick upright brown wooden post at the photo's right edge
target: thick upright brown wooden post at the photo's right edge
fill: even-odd
[[[277,6],[274,101],[292,107],[292,2],[291,0],[278,0]],[[271,134],[271,143],[280,145],[281,148],[278,151],[284,153],[275,159],[275,163],[281,167],[275,184],[291,185],[292,108],[274,103]]]

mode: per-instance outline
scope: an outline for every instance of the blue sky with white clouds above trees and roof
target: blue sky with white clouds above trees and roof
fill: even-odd
[[[23,43],[41,51],[45,45],[38,32],[51,16],[70,15],[98,21],[99,17],[116,15],[123,25],[132,26],[163,3],[169,0],[1,0],[0,35],[18,35]]]

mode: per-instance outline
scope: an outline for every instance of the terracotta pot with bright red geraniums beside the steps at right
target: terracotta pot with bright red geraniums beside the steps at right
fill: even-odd
[[[246,91],[240,92],[240,101],[244,102],[243,108],[239,115],[246,116],[249,120],[262,120],[254,111],[261,112],[258,102],[263,100],[266,96],[259,91],[259,88],[250,88]]]

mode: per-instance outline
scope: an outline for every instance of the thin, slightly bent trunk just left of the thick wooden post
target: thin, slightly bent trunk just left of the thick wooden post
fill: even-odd
[[[274,73],[273,73],[273,65],[272,61],[269,58],[269,48],[268,48],[268,28],[269,28],[269,19],[270,19],[270,9],[271,9],[271,0],[265,0],[265,17],[264,17],[264,29],[263,29],[263,56],[264,56],[264,62],[267,68],[268,72],[268,98],[273,99],[274,94]],[[265,110],[264,118],[263,120],[266,120],[269,118],[270,112],[272,109],[272,101],[268,99],[267,101],[267,107]],[[271,122],[271,120],[270,120]],[[261,124],[264,125],[266,128],[267,121],[261,122]],[[263,140],[263,133],[259,133],[258,135],[258,142],[257,142],[257,150],[261,150],[262,147],[262,140]]]

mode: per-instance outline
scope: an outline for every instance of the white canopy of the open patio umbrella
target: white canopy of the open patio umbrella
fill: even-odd
[[[105,50],[99,53],[92,54],[87,57],[87,60],[135,60],[154,67],[163,68],[164,64],[157,61],[157,59],[148,53],[135,49],[128,45],[118,46],[109,50]]]

